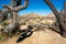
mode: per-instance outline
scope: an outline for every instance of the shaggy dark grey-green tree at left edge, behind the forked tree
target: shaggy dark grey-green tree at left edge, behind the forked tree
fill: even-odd
[[[1,21],[7,20],[9,13],[10,13],[10,18],[12,19],[12,12],[11,12],[9,9],[3,8],[2,10],[0,10],[0,16],[1,16],[0,20],[1,20]],[[1,22],[1,21],[0,21],[0,22]]]

